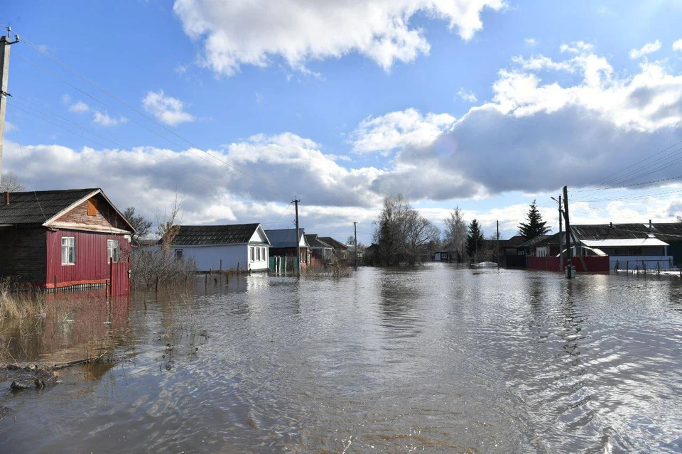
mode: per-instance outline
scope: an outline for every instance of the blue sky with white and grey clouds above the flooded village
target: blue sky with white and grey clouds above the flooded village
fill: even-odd
[[[516,233],[682,214],[682,1],[7,2],[3,171],[369,242],[402,193]]]

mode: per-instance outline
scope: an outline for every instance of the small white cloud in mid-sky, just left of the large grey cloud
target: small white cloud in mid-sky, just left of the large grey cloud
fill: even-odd
[[[379,151],[388,155],[397,148],[429,146],[454,122],[455,117],[449,114],[425,117],[416,109],[368,117],[352,134],[353,148],[357,153]]]

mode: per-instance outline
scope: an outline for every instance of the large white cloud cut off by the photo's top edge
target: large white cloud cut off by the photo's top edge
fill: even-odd
[[[359,53],[389,70],[396,61],[428,54],[421,28],[410,25],[417,13],[448,21],[464,40],[483,23],[480,13],[499,11],[503,0],[176,0],[173,11],[185,33],[203,39],[202,65],[233,75],[242,65],[266,67],[282,58],[305,72],[310,60]]]

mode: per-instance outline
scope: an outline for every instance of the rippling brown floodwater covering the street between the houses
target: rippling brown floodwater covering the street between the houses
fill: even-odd
[[[192,296],[62,293],[3,355],[3,453],[679,452],[682,279],[360,269],[197,279]]]

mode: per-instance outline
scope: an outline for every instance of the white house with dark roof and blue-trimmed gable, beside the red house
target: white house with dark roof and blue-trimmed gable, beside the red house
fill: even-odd
[[[199,271],[267,271],[270,241],[260,224],[180,225],[171,250]]]

